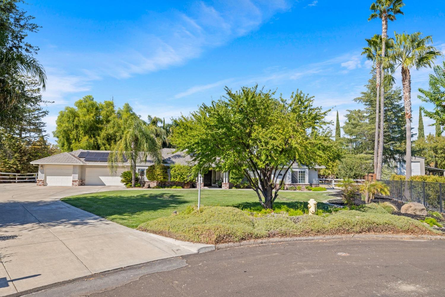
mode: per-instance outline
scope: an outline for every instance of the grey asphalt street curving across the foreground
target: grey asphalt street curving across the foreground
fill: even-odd
[[[444,255],[444,240],[262,244],[150,262],[32,296],[442,297]]]

